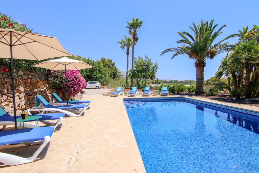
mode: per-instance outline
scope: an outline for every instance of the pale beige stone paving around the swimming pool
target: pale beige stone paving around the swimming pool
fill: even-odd
[[[145,172],[122,101],[127,97],[83,96],[83,100],[92,100],[90,109],[85,110],[84,116],[64,118],[37,161],[17,166],[0,165],[0,172]],[[259,111],[255,106],[195,96],[169,97],[178,96]],[[158,95],[152,97],[159,98]],[[9,129],[13,126],[8,126]],[[7,145],[1,146],[0,152],[30,157],[38,147]]]

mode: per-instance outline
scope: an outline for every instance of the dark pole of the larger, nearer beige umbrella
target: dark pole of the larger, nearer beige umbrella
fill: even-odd
[[[11,56],[11,80],[12,80],[12,91],[13,91],[13,114],[15,116],[15,129],[17,130],[17,121],[16,121],[16,105],[15,105],[15,78],[13,76],[13,45],[12,45],[12,32],[10,32],[10,56]]]

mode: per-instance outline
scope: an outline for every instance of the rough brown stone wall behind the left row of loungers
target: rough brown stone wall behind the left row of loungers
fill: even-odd
[[[42,95],[47,101],[50,101],[51,93],[56,92],[63,100],[66,98],[65,94],[59,93],[48,84],[46,73],[18,70],[14,73],[14,77],[17,115],[20,115],[23,110],[35,106],[35,95]],[[0,71],[0,106],[13,114],[11,86],[11,72]],[[80,100],[82,94],[79,93],[74,98]]]

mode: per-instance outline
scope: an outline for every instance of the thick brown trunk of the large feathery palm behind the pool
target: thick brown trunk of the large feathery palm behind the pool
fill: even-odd
[[[195,94],[205,94],[204,89],[204,65],[196,65],[196,90]]]

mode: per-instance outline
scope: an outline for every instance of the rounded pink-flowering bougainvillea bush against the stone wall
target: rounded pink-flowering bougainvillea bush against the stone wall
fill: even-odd
[[[60,92],[66,92],[66,76],[64,70],[52,70],[49,74],[49,83]],[[67,70],[67,91],[69,95],[77,95],[87,82],[78,70]]]

